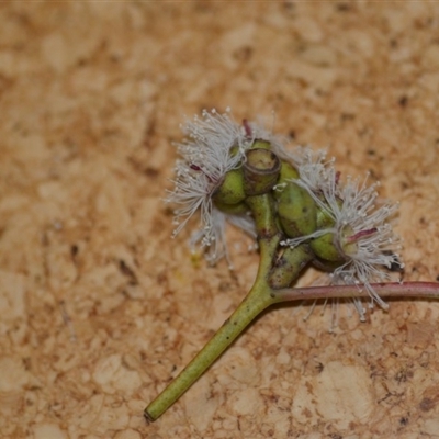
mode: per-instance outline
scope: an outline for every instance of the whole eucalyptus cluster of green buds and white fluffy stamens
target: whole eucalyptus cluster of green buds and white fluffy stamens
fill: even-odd
[[[204,111],[183,132],[188,138],[178,144],[181,159],[168,198],[179,205],[175,234],[200,212],[192,247],[200,243],[211,262],[223,256],[230,261],[226,224],[257,238],[251,199],[267,194],[281,237],[270,268],[272,288],[291,286],[312,264],[327,271],[333,284],[364,286],[371,304],[386,308],[372,283],[387,280],[390,269],[403,263],[399,238],[387,222],[397,204],[379,200],[378,183],[368,185],[368,177],[342,182],[325,151],[288,151],[280,137],[257,123],[237,124],[229,113]],[[364,319],[361,302],[354,303]]]

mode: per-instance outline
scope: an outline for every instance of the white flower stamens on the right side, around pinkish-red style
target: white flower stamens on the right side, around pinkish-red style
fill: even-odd
[[[330,273],[331,283],[354,284],[359,289],[364,286],[372,299],[371,306],[375,301],[386,309],[387,304],[376,294],[371,283],[389,280],[389,269],[395,264],[404,267],[395,252],[401,249],[399,238],[386,223],[395,213],[397,204],[384,201],[375,205],[378,183],[367,187],[368,177],[362,182],[348,177],[347,182],[341,184],[333,161],[322,167],[324,159],[325,156],[320,156],[314,162],[305,160],[299,166],[301,178],[294,182],[308,191],[334,225],[307,236],[286,239],[282,244],[295,247],[303,241],[331,234],[334,247],[342,259]],[[354,300],[354,305],[361,319],[364,319],[361,301]]]

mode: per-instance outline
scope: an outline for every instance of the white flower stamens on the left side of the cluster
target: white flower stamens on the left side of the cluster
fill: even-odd
[[[167,202],[178,205],[173,236],[200,210],[201,227],[192,235],[191,245],[194,247],[201,243],[201,247],[209,248],[205,256],[211,262],[223,256],[229,261],[225,240],[226,221],[256,236],[249,216],[226,215],[212,201],[225,175],[241,165],[245,151],[254,142],[246,128],[246,125],[235,123],[227,113],[204,110],[201,119],[194,116],[193,121],[182,125],[188,138],[177,144],[181,159],[176,166],[176,188],[167,199]],[[232,147],[237,147],[233,155]]]

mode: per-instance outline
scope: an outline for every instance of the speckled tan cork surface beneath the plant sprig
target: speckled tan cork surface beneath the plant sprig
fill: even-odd
[[[158,421],[150,402],[228,316],[230,273],[170,239],[179,123],[266,116],[401,201],[406,280],[439,275],[439,4],[2,2],[2,438],[438,438],[439,303],[369,322],[266,313]],[[307,273],[302,284],[309,283]]]

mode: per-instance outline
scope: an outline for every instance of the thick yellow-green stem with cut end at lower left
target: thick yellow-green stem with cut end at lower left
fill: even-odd
[[[261,262],[252,289],[196,357],[146,407],[147,420],[154,421],[161,416],[212,365],[257,315],[277,302],[268,285],[267,273],[278,244],[279,238],[277,237],[260,241]]]

